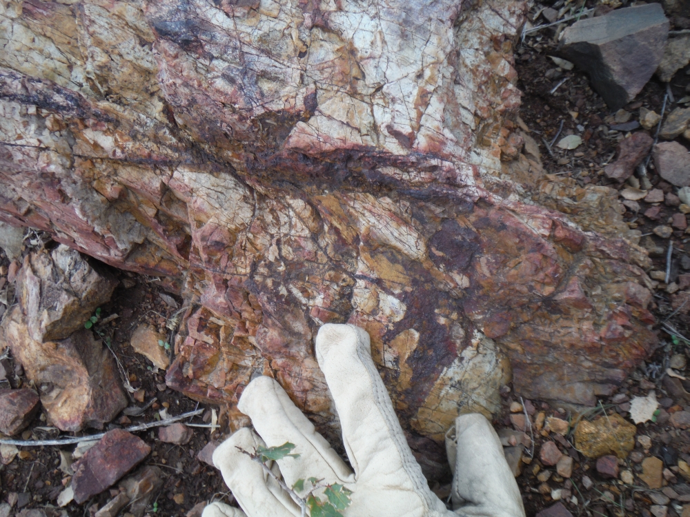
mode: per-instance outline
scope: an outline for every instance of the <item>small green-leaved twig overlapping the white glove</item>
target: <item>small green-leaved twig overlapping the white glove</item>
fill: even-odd
[[[253,453],[244,451],[239,447],[237,448],[260,463],[264,468],[264,472],[276,480],[284,490],[288,491],[288,493],[297,500],[299,506],[302,507],[302,517],[306,516],[307,509],[309,509],[311,517],[341,517],[342,511],[351,503],[350,495],[352,491],[338,483],[328,485],[327,483],[322,483],[322,479],[298,479],[293,487],[290,488],[283,480],[277,478],[277,476],[273,474],[265,465],[267,461],[282,460],[283,458],[299,458],[299,454],[293,454],[293,449],[295,449],[295,444],[293,443],[286,442],[277,447],[259,446]],[[306,485],[307,483],[308,485]],[[306,486],[309,487],[306,496],[299,496],[297,492],[304,492]],[[315,491],[320,489],[324,489],[323,496],[326,496],[326,500],[322,500],[320,496],[315,495]]]

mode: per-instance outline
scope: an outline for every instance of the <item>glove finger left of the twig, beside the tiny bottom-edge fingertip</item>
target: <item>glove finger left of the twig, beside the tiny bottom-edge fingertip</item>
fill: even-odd
[[[251,429],[239,429],[215,449],[213,464],[220,469],[226,485],[248,517],[300,516],[299,506],[286,491],[259,463],[242,452],[253,453],[259,445],[265,445],[264,441]]]

